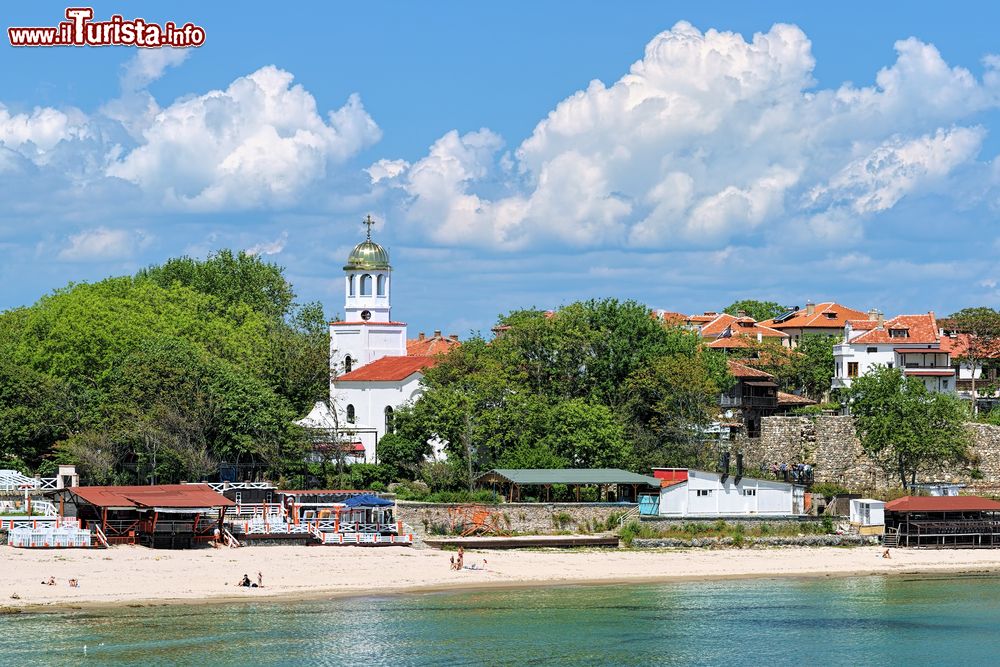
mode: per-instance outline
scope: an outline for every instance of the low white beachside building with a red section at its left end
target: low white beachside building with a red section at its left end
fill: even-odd
[[[809,510],[805,487],[689,468],[653,468],[658,505],[643,514],[667,517],[799,516]]]

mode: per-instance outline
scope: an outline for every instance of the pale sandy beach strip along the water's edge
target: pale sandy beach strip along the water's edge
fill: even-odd
[[[76,607],[105,604],[223,602],[379,595],[601,583],[719,578],[1000,572],[1000,551],[880,547],[664,551],[469,551],[449,569],[451,552],[405,547],[243,547],[190,551],[119,546],[107,550],[0,547],[0,606]],[[244,574],[264,588],[241,588]],[[55,577],[54,586],[42,580]],[[68,580],[78,579],[78,588]]]

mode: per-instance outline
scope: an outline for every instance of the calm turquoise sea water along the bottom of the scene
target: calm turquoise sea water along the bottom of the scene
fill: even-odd
[[[0,616],[3,665],[985,665],[1000,578],[758,579]]]

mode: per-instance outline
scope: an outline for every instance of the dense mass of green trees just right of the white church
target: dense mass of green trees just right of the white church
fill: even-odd
[[[395,471],[447,488],[493,467],[639,470],[704,455],[700,427],[732,378],[697,334],[613,299],[515,311],[500,326],[429,369],[421,400],[396,411]],[[449,457],[433,480],[416,444],[429,440]]]

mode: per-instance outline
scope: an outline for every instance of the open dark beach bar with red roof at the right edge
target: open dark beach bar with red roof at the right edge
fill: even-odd
[[[1000,547],[1000,502],[979,496],[905,496],[885,504],[886,545]]]

